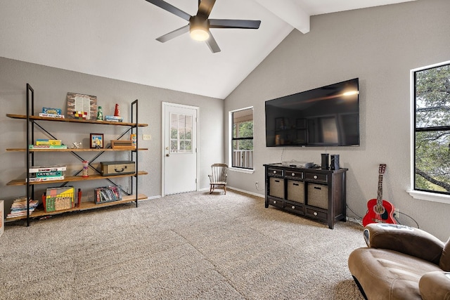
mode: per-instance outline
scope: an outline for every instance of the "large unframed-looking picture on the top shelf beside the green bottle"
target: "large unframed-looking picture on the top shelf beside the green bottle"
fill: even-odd
[[[68,118],[96,119],[97,97],[81,93],[68,93]]]

